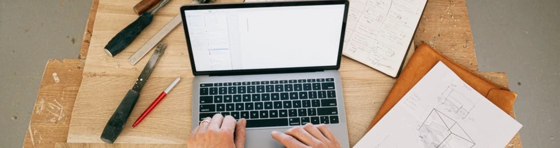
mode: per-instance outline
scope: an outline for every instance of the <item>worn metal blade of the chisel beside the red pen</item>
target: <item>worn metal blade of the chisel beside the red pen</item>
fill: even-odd
[[[164,55],[166,47],[167,44],[165,43],[157,44],[156,51],[153,51],[152,57],[150,57],[150,60],[148,60],[148,63],[146,64],[146,66],[144,66],[144,69],[142,70],[142,73],[140,73],[140,76],[136,80],[136,83],[134,83],[134,87],[132,87],[132,90],[136,90],[137,92],[140,92],[140,90],[142,89],[142,87],[150,77],[153,68],[157,64],[157,61],[160,60],[161,55]]]

